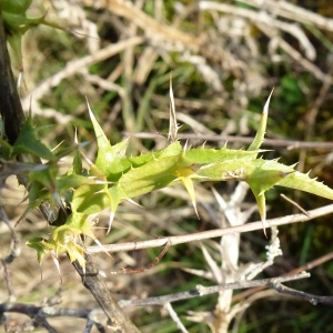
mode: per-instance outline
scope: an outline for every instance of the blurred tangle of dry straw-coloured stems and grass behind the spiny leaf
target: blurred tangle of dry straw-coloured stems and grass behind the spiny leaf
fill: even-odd
[[[222,147],[228,139],[229,147],[239,149],[255,132],[259,112],[275,87],[265,148],[279,150],[285,163],[300,161],[301,171],[313,168],[313,175],[333,186],[331,1],[312,1],[316,2],[313,7],[311,1],[292,4],[278,0],[33,2],[31,14],[47,10],[48,20],[64,28],[60,31],[38,27],[26,34],[23,44],[22,105],[26,111],[31,108],[39,134],[50,147],[62,140],[70,144],[77,129],[80,142],[91,141],[85,153],[93,160],[97,147],[87,95],[111,143],[130,138],[129,153],[133,154],[164,148],[172,72],[178,121],[182,124],[180,137],[189,139],[189,144],[206,142],[209,147]],[[268,154],[275,157],[273,151]],[[70,159],[63,160],[63,168],[70,163]],[[7,184],[1,204],[14,225],[24,210],[27,193],[16,178],[8,179]],[[259,220],[254,199],[244,184],[214,184],[213,191],[212,185],[196,188],[201,220],[186,201],[185,191],[172,188],[140,198],[143,208],[122,204],[109,235],[108,214],[99,216],[97,235],[103,244],[152,240],[155,243],[150,248],[154,248],[163,243],[159,243],[163,236],[243,226]],[[285,194],[305,210],[327,203],[310,194]],[[278,191],[269,195],[269,218],[300,212],[281,200]],[[332,206],[320,214],[329,212]],[[299,220],[307,219],[300,216]],[[282,220],[278,221],[281,224]],[[316,219],[284,225],[279,228],[279,238],[273,232],[271,242],[262,231],[222,238],[215,233],[205,240],[201,236],[201,241],[171,246],[158,265],[138,274],[112,272],[145,268],[161,248],[118,252],[115,245],[113,260],[98,253],[93,261],[141,332],[330,332],[332,310],[327,305],[314,307],[305,301],[309,295],[291,299],[268,289],[278,289],[280,281],[261,281],[261,286],[245,283],[254,278],[299,274],[306,269],[312,270],[312,276],[306,282],[294,282],[293,287],[332,295],[329,223],[330,219]],[[261,228],[259,223],[251,225],[249,231]],[[98,309],[67,258],[60,260],[62,283],[49,258],[42,262],[40,279],[36,252],[24,245],[31,236],[48,234],[47,222],[37,210],[16,228],[16,251],[20,253],[10,265],[1,268],[0,303]],[[0,224],[0,234],[3,261],[14,244],[6,223]],[[85,244],[93,253],[89,240]],[[266,249],[270,244],[273,248]],[[148,245],[143,243],[144,248]],[[266,252],[280,256],[268,258]],[[182,301],[171,302],[176,293],[198,285],[223,286],[232,282],[239,283],[236,287],[252,289],[239,293],[231,289],[208,290],[209,295],[185,294]],[[167,299],[159,301],[159,295]],[[332,304],[331,299],[315,300]],[[9,332],[22,332],[36,324],[27,323],[27,316],[21,314],[6,316]],[[97,316],[94,320],[104,324],[98,311]],[[57,332],[83,332],[87,324],[87,320],[65,316],[48,321]],[[84,332],[98,329],[89,331],[85,326]]]

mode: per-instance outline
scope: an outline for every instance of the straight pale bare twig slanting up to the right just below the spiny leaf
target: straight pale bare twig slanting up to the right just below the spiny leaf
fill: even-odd
[[[266,220],[268,228],[299,223],[299,222],[307,222],[315,218],[331,214],[331,213],[333,213],[333,204],[329,204],[329,205],[309,211],[307,213],[309,213],[307,216],[304,214],[292,214],[292,215],[286,215],[283,218]],[[159,238],[155,240],[149,240],[149,241],[142,241],[142,242],[127,242],[127,243],[109,244],[109,245],[103,244],[103,248],[104,248],[103,250],[111,252],[111,253],[112,252],[121,252],[121,251],[142,250],[142,249],[164,246],[168,242],[170,242],[170,245],[176,245],[176,244],[183,244],[183,243],[189,243],[189,242],[194,242],[194,241],[202,241],[202,240],[206,240],[206,239],[221,238],[223,235],[232,234],[232,233],[250,232],[250,231],[254,231],[254,230],[262,230],[261,221],[246,223],[243,225],[195,232],[195,233],[190,233],[190,234],[184,234],[184,235]],[[87,248],[87,253],[90,253],[90,254],[100,253],[100,252],[103,252],[103,250],[101,250],[100,246],[89,246],[89,248]]]

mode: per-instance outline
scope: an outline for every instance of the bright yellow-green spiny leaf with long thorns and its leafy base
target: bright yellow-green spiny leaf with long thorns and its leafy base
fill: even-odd
[[[171,85],[170,85],[171,87]],[[233,150],[224,145],[221,149],[188,148],[178,140],[178,123],[170,88],[170,129],[169,143],[165,149],[141,154],[127,155],[128,140],[111,145],[91,111],[89,114],[94,129],[98,152],[92,162],[81,152],[85,144],[51,151],[37,138],[31,117],[28,118],[22,131],[13,145],[3,143],[7,160],[18,154],[30,154],[46,160],[36,170],[28,172],[29,204],[28,212],[43,202],[60,205],[67,220],[62,225],[51,226],[49,238],[34,238],[27,244],[37,250],[39,262],[44,254],[51,254],[56,264],[59,254],[67,253],[71,261],[79,261],[84,270],[84,249],[80,245],[82,235],[94,240],[91,220],[105,209],[110,209],[108,232],[118,205],[122,201],[133,201],[159,189],[183,184],[196,211],[195,182],[236,180],[246,182],[258,203],[259,212],[265,232],[265,192],[274,185],[296,189],[333,200],[333,190],[323,183],[294,170],[294,165],[284,165],[278,160],[265,160],[261,144],[264,140],[270,94],[261,115],[256,135],[248,150]],[[58,162],[73,153],[71,168],[60,173]],[[83,168],[83,162],[88,168]]]

